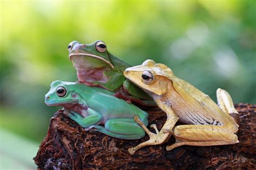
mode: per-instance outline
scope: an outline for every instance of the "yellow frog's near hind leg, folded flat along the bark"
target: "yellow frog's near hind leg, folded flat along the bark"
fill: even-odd
[[[212,146],[235,144],[237,135],[225,132],[225,126],[215,125],[179,125],[174,128],[176,143],[167,146],[167,151],[181,145]]]

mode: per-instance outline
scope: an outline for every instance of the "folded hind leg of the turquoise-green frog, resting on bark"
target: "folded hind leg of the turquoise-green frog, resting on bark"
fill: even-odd
[[[105,122],[105,127],[92,125],[89,128],[119,139],[140,139],[145,136],[145,131],[133,118],[109,119]]]

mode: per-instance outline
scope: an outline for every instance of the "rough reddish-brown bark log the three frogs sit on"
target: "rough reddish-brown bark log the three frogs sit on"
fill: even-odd
[[[149,137],[121,140],[85,132],[58,111],[51,118],[48,134],[34,160],[38,169],[255,169],[256,105],[237,104],[235,107],[242,120],[238,144],[180,146],[166,151],[165,147],[174,142],[171,137],[163,145],[141,148],[134,155],[127,149]],[[165,119],[164,113],[150,113],[150,124],[156,123],[159,129]]]

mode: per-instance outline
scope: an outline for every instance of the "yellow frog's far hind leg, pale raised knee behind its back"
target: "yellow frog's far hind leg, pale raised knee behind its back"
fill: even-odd
[[[239,124],[241,120],[239,118],[238,111],[234,108],[230,94],[228,94],[228,92],[223,89],[217,89],[216,94],[218,106],[221,108],[221,110],[231,115],[235,122]]]

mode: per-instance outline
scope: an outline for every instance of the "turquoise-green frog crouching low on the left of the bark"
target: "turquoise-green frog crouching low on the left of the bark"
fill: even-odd
[[[147,125],[148,113],[112,94],[99,87],[56,80],[45,94],[45,104],[64,107],[64,114],[85,131],[127,140],[143,138],[145,131],[133,118]]]

